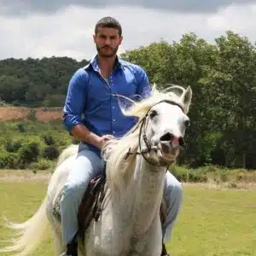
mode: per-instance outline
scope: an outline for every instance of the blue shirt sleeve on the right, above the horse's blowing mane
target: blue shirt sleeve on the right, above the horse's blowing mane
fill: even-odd
[[[142,67],[137,67],[137,96],[142,100],[151,96],[151,87],[148,81],[148,75]]]

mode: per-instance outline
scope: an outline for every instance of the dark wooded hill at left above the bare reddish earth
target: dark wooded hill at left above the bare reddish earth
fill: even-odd
[[[67,57],[0,61],[0,103],[60,107],[72,74],[88,62]]]

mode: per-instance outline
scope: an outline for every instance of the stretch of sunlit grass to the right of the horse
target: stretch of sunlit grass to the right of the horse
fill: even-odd
[[[256,255],[256,192],[186,187],[168,248],[179,256]]]

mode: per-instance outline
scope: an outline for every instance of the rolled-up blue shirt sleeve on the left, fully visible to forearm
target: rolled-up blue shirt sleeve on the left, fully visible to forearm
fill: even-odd
[[[63,108],[63,124],[67,131],[73,126],[83,123],[82,113],[85,108],[88,88],[88,73],[80,68],[73,74],[67,89],[67,97]]]

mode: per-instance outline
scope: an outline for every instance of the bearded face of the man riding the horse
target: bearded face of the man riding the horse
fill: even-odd
[[[99,27],[93,38],[98,55],[105,58],[113,57],[123,40],[123,37],[119,36],[119,30],[111,27]]]

